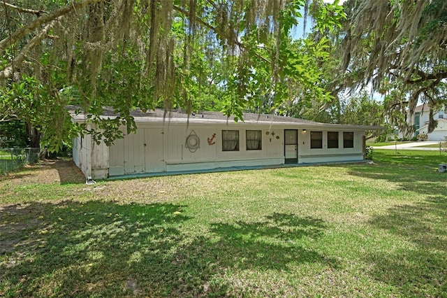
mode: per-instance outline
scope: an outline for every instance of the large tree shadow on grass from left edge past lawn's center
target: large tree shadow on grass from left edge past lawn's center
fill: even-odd
[[[290,270],[322,262],[298,241],[323,221],[274,213],[191,234],[186,206],[63,201],[0,209],[0,293],[11,296],[200,297],[231,295],[226,269]]]

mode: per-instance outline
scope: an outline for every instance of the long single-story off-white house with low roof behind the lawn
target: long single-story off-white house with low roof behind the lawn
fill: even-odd
[[[169,113],[168,113],[169,114]],[[71,113],[72,121],[86,115]],[[135,111],[135,134],[112,146],[90,135],[73,140],[73,160],[87,178],[102,179],[145,173],[183,172],[247,166],[359,162],[365,159],[365,130],[276,115],[244,114],[234,122],[216,112],[188,115],[173,111]],[[116,115],[105,109],[103,118]]]

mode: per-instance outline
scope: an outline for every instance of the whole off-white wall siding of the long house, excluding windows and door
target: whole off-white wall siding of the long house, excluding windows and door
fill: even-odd
[[[239,131],[239,150],[222,150],[222,131]],[[267,166],[284,164],[284,129],[296,129],[298,132],[298,163],[344,162],[363,159],[364,131],[337,130],[339,148],[327,148],[325,129],[291,126],[251,125],[230,122],[228,125],[214,124],[147,124],[138,125],[135,134],[117,139],[110,148],[101,143],[91,145],[91,176],[107,178],[138,173],[163,171],[190,171],[217,169],[230,166]],[[246,131],[261,130],[262,150],[247,150]],[[310,132],[323,132],[323,148],[310,148]],[[353,148],[343,148],[343,132],[354,132]],[[199,146],[196,150],[187,148],[186,139],[196,134]],[[212,144],[207,142],[216,134]],[[88,175],[88,159],[85,141],[78,153],[82,171]],[[78,166],[79,166],[78,164]]]

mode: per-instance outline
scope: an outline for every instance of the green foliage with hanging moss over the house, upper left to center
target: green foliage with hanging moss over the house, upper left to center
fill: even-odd
[[[296,86],[330,95],[311,62],[328,55],[327,41],[292,43],[309,0],[11,2],[0,1],[0,118],[26,119],[52,149],[88,132],[69,121],[67,104],[89,113],[90,133],[110,143],[120,125],[135,129],[134,108],[211,106],[241,120],[266,98],[281,108]],[[321,30],[339,25],[341,6],[314,2]],[[27,92],[11,95],[22,83]],[[12,99],[15,111],[6,108]],[[119,117],[100,118],[105,105]]]

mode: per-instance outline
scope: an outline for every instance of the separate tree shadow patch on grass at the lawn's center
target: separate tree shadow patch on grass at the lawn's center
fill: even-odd
[[[332,260],[315,250],[302,246],[304,237],[316,239],[325,230],[323,220],[299,218],[291,214],[274,213],[263,222],[237,222],[235,225],[212,225],[212,233],[220,241],[214,243],[220,251],[219,263],[240,269],[287,270],[289,264],[321,262],[338,267]]]

